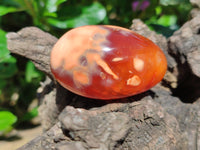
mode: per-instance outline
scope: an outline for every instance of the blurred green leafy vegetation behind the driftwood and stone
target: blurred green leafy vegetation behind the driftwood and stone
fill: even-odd
[[[168,37],[189,19],[189,0],[0,0],[0,137],[37,116],[36,90],[45,75],[10,54],[6,33],[37,26],[56,37],[71,28],[110,24],[129,28],[134,18]]]

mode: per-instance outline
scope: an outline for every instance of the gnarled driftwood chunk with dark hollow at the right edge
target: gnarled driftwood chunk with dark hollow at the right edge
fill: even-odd
[[[169,53],[177,62],[172,72],[179,83],[173,92],[194,102],[200,97],[200,12],[169,38]]]

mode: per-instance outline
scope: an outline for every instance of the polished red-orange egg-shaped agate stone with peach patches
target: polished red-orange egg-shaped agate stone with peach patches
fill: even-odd
[[[94,99],[118,99],[146,91],[162,80],[165,55],[149,39],[110,25],[65,33],[51,52],[51,70],[66,89]]]

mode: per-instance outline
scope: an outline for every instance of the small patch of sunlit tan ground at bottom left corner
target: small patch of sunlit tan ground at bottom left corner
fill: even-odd
[[[40,134],[42,134],[41,126],[32,129],[18,130],[17,138],[9,141],[0,141],[0,150],[16,150]]]

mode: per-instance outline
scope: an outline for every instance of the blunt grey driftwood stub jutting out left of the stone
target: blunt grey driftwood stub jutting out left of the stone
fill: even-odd
[[[11,53],[24,56],[33,61],[35,66],[53,77],[50,70],[50,52],[57,38],[42,32],[36,27],[29,27],[17,33],[7,34],[8,49]]]

